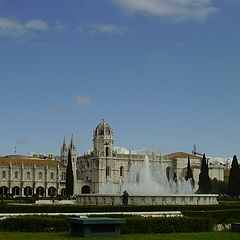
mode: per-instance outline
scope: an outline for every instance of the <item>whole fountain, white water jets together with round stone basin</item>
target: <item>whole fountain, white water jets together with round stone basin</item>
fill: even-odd
[[[120,184],[104,182],[99,194],[76,197],[80,205],[122,205],[122,192],[129,193],[129,205],[213,205],[217,194],[194,194],[191,181],[168,181],[160,163],[132,164],[128,176]]]

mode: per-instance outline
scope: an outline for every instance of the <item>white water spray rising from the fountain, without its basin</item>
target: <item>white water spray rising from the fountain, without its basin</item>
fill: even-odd
[[[145,155],[144,162],[133,163],[129,174],[121,184],[104,182],[100,185],[101,194],[120,194],[127,191],[130,195],[166,195],[193,194],[191,181],[181,179],[177,182],[168,181],[164,168],[160,163],[150,163]]]

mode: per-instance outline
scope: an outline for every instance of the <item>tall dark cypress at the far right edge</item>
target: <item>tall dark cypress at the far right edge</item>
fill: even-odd
[[[240,170],[236,155],[233,156],[227,190],[231,197],[238,197],[240,195]]]

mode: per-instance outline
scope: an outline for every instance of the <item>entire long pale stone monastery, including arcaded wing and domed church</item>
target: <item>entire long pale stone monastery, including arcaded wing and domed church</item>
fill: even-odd
[[[143,163],[144,154],[119,153],[114,149],[113,130],[102,120],[93,131],[93,149],[88,154],[77,156],[77,149],[72,136],[67,145],[65,138],[61,147],[60,161],[22,156],[0,157],[0,196],[55,196],[64,195],[68,152],[74,174],[74,195],[97,194],[102,183],[122,183],[133,163]],[[185,177],[188,157],[195,183],[198,183],[201,157],[177,152],[161,156],[148,154],[151,163],[160,163],[168,179]],[[210,178],[226,180],[225,166],[210,164]]]

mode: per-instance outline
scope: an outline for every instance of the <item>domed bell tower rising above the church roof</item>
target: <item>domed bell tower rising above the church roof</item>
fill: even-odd
[[[93,132],[93,155],[95,157],[112,157],[113,131],[104,119]]]

